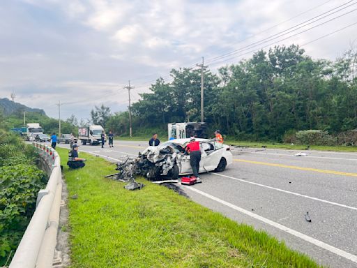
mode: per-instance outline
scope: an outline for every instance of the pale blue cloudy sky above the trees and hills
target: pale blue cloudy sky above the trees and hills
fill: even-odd
[[[357,0],[3,0],[0,98],[14,92],[54,118],[61,102],[62,119],[89,119],[94,105],[127,110],[128,80],[137,101],[158,77],[169,81],[172,68],[202,57],[216,71],[294,43],[335,60],[357,45],[355,9]]]

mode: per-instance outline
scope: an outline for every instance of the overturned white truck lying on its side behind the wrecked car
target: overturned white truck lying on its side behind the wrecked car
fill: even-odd
[[[188,137],[207,138],[206,123],[204,122],[187,122],[187,123],[172,123],[167,125],[169,140],[185,139]]]

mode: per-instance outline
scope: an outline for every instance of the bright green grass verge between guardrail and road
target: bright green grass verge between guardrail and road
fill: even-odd
[[[114,164],[87,158],[68,170],[71,267],[318,267],[283,243],[240,225],[163,186],[127,191],[105,179]],[[67,228],[67,227],[66,227]]]

